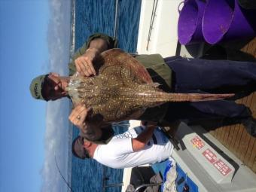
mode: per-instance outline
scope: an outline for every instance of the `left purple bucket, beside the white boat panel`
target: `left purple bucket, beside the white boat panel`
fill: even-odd
[[[202,17],[206,3],[201,0],[184,1],[178,18],[178,41],[181,44],[203,42]]]

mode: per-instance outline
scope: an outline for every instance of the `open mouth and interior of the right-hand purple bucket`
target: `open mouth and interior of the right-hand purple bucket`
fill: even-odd
[[[231,4],[231,6],[230,6]],[[232,2],[208,0],[203,14],[203,37],[209,44],[216,44],[224,37],[233,20]]]

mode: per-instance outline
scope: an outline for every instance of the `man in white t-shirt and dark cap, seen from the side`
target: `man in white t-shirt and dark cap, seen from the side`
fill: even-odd
[[[154,125],[136,126],[114,136],[106,145],[89,142],[81,136],[72,144],[75,157],[93,158],[116,169],[161,162],[170,157],[172,151],[172,143]]]

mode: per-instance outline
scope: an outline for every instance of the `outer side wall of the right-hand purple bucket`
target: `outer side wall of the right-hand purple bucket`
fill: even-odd
[[[254,36],[256,36],[256,10],[244,9],[239,5],[238,0],[235,0],[233,21],[224,36],[224,41]]]

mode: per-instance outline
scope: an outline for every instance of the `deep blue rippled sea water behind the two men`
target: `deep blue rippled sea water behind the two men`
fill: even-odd
[[[118,2],[118,47],[127,52],[136,52],[139,29],[141,1],[119,0]],[[84,44],[94,32],[114,35],[115,0],[76,0],[75,8],[75,50]],[[126,124],[126,122],[124,122]],[[73,128],[73,138],[78,130]],[[125,126],[114,129],[123,133]],[[102,170],[106,169],[107,184],[122,181],[123,169],[104,168],[95,160],[79,160],[72,157],[72,189],[74,191],[102,191]],[[120,187],[111,187],[106,191],[117,192]]]

